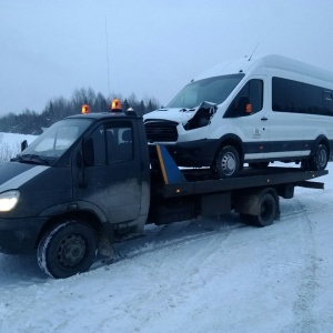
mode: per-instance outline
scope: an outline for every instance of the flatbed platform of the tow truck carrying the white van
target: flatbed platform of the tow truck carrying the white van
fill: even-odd
[[[216,179],[208,168],[179,168],[167,149],[158,145],[157,150],[160,169],[151,172],[151,189],[152,193],[165,199],[279,185],[323,189],[323,183],[309,181],[329,173],[327,170],[307,171],[303,168],[246,167],[238,176]]]

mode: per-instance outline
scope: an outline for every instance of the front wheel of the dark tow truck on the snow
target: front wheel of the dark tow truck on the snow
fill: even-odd
[[[38,245],[38,264],[51,278],[69,278],[89,270],[97,249],[97,236],[89,225],[68,221],[43,235]]]

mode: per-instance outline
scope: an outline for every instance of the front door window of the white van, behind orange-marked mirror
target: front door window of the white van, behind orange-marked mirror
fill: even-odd
[[[263,81],[259,79],[252,79],[246,82],[246,84],[233,99],[224,114],[224,118],[251,115],[262,110],[262,107]]]

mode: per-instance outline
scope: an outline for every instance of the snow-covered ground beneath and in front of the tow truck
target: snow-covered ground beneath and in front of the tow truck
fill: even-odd
[[[325,190],[281,199],[271,226],[236,214],[164,226],[118,260],[52,280],[0,254],[0,332],[333,332],[333,163]]]

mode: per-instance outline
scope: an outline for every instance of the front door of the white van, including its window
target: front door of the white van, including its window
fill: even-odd
[[[224,115],[233,118],[235,133],[243,142],[245,160],[263,159],[269,152],[269,128],[263,92],[263,78],[249,80]]]

